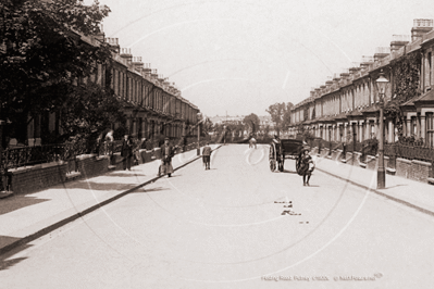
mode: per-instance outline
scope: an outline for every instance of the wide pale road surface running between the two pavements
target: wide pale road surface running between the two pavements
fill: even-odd
[[[432,288],[434,218],[266,158],[222,147],[17,250],[0,288]]]

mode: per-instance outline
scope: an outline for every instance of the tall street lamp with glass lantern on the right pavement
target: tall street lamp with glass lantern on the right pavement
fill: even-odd
[[[376,173],[376,188],[384,189],[386,187],[386,172],[384,169],[384,95],[388,80],[384,77],[383,70],[380,72],[380,76],[376,79],[376,88],[379,90],[380,98],[380,140],[379,140],[379,171]]]

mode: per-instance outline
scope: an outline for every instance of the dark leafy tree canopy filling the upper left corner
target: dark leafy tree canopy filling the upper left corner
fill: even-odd
[[[111,51],[82,41],[98,35],[110,12],[98,1],[3,0],[0,4],[1,116],[15,131],[26,131],[27,116],[54,112],[77,79],[90,76],[97,64],[108,64]]]

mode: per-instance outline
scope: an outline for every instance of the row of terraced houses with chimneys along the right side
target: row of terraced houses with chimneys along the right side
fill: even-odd
[[[377,48],[373,56],[335,74],[310,97],[292,109],[290,135],[310,131],[328,141],[357,141],[384,137],[414,137],[434,146],[434,30],[433,20],[414,20],[411,36],[394,35],[389,47]],[[388,86],[384,103],[397,103],[398,113],[380,120],[376,79],[384,73]],[[392,110],[393,111],[393,110]]]

